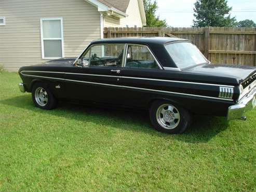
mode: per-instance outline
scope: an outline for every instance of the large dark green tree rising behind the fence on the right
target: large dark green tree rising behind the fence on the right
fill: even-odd
[[[226,0],[197,0],[194,8],[193,26],[236,26],[236,18],[231,17]]]

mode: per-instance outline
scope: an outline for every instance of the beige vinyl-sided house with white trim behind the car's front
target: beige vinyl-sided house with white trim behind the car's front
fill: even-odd
[[[8,71],[76,57],[104,27],[146,24],[143,0],[0,1],[0,65]]]

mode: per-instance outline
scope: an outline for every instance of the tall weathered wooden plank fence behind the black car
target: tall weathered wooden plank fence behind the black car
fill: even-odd
[[[256,66],[256,28],[104,28],[104,38],[190,39],[212,63]]]

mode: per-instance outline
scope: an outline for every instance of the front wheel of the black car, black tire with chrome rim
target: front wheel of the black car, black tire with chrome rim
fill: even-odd
[[[43,91],[46,92],[45,95],[47,96],[47,101],[42,102],[41,99],[38,98],[38,97],[36,99],[36,95],[38,95],[38,93],[36,93],[36,92],[38,92],[39,90],[43,90]],[[50,109],[56,108],[57,107],[57,103],[58,103],[58,101],[53,96],[53,94],[51,93],[51,91],[47,87],[47,85],[45,85],[44,83],[39,83],[39,82],[35,83],[33,85],[33,87],[32,87],[32,99],[33,99],[33,102],[34,102],[36,107],[39,107],[39,108],[42,108],[42,109],[46,109],[46,110],[50,110]]]

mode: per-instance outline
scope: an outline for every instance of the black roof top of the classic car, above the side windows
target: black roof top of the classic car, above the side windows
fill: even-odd
[[[173,37],[121,37],[121,38],[105,38],[98,39],[91,42],[92,44],[98,43],[132,43],[132,44],[161,44],[165,45],[177,41],[190,41],[182,38],[173,38]]]

